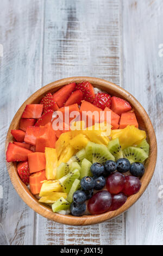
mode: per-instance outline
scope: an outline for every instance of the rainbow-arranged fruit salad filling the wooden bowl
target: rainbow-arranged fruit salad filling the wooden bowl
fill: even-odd
[[[70,83],[29,104],[6,159],[40,203],[73,216],[116,211],[139,192],[149,155],[135,109],[121,97]]]

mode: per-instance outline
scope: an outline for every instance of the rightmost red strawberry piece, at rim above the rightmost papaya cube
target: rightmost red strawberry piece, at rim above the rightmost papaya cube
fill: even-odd
[[[130,103],[126,100],[121,99],[120,97],[111,97],[111,110],[116,114],[121,115],[124,112],[131,110]]]

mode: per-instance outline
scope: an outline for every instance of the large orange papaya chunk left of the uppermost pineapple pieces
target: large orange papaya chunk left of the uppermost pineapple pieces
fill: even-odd
[[[36,138],[36,151],[45,152],[45,148],[55,148],[57,137],[53,130],[52,123],[40,126],[39,136]]]

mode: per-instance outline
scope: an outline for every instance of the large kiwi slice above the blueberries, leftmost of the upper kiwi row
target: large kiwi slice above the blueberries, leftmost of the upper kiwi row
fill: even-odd
[[[92,163],[104,163],[107,160],[115,160],[114,156],[109,152],[106,146],[89,142],[85,148],[86,159]]]

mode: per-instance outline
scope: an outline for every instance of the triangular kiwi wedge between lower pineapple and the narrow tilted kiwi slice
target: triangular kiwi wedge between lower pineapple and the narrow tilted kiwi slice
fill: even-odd
[[[79,179],[80,172],[78,169],[74,169],[72,172],[69,172],[65,176],[63,176],[61,179],[59,179],[59,182],[64,190],[65,193],[69,193],[72,187],[72,184],[75,179]]]

